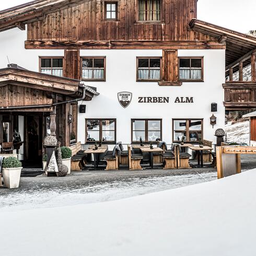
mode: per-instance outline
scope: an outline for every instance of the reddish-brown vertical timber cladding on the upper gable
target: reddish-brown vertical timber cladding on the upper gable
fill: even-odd
[[[102,19],[104,1],[85,1],[46,14],[43,19],[29,23],[27,40],[38,42],[217,40],[190,29],[189,22],[192,18],[196,18],[196,0],[162,0],[161,20],[158,22],[138,22],[138,0],[117,2],[118,20]]]

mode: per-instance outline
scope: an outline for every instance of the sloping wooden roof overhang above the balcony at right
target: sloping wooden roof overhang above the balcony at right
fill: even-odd
[[[202,20],[192,19],[190,27],[197,32],[205,33],[226,41],[226,66],[236,62],[241,56],[256,49],[256,38],[234,30],[219,27]],[[250,64],[250,60],[244,62],[244,66]],[[236,67],[238,69],[238,67]],[[234,68],[234,72],[237,70]]]

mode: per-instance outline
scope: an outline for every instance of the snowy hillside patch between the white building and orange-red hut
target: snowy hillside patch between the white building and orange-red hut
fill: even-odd
[[[246,143],[250,145],[250,121],[225,125],[228,142]]]

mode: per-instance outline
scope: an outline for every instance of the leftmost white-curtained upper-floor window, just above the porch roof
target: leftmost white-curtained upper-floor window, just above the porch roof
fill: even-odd
[[[40,57],[40,72],[63,76],[63,57]]]

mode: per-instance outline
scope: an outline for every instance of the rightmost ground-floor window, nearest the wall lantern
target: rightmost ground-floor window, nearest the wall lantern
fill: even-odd
[[[203,140],[203,119],[172,119],[172,140],[185,142]]]

